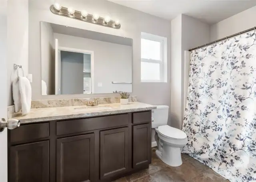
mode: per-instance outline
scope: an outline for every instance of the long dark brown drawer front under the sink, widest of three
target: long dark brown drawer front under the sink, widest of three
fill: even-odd
[[[118,127],[122,125],[128,125],[128,123],[128,114],[58,121],[57,135],[66,135],[84,131]]]

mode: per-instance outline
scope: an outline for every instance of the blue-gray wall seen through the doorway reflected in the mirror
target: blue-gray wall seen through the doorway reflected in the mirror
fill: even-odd
[[[61,51],[61,94],[84,93],[84,54]]]

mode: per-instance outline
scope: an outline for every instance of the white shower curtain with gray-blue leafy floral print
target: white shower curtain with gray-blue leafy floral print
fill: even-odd
[[[188,153],[231,182],[256,181],[255,31],[191,52]]]

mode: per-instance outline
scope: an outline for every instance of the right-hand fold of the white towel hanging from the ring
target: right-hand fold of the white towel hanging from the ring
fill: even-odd
[[[30,112],[31,108],[31,85],[26,77],[19,77],[20,101],[22,115]]]

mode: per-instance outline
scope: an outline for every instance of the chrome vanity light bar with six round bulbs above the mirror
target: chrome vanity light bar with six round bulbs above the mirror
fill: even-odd
[[[50,6],[50,10],[53,14],[66,16],[68,18],[73,18],[76,20],[81,20],[92,24],[97,24],[115,29],[119,29],[121,27],[118,21],[110,20],[108,16],[106,18],[102,18],[98,14],[88,14],[85,10],[82,10],[82,12],[80,12],[78,10],[74,10],[74,8],[72,7],[62,7],[58,3]]]

